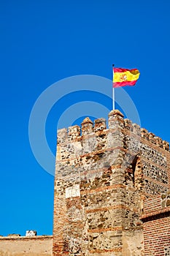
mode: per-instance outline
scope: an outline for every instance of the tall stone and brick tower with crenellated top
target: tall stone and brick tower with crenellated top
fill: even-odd
[[[53,256],[170,255],[169,143],[119,110],[58,130]]]

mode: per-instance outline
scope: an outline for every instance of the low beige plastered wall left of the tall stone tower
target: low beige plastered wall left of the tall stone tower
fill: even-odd
[[[0,236],[0,256],[52,256],[53,236]]]

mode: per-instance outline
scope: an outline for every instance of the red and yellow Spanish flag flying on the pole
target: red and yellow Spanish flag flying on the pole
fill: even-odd
[[[138,69],[123,69],[113,67],[113,87],[134,86],[139,78]]]

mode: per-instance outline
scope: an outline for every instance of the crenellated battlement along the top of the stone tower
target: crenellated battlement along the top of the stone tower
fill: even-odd
[[[58,144],[66,143],[66,141],[82,140],[87,136],[98,135],[98,132],[109,132],[110,129],[126,129],[138,138],[145,139],[155,144],[156,146],[169,151],[169,142],[162,140],[147,129],[140,128],[138,124],[134,124],[128,118],[124,118],[119,110],[112,110],[109,113],[107,129],[107,120],[98,118],[91,121],[90,118],[85,118],[82,121],[81,127],[74,125],[68,129],[58,129]]]

